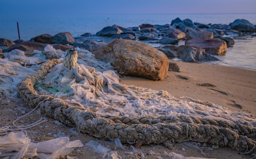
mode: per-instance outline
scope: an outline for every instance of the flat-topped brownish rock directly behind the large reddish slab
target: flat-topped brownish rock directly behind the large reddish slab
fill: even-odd
[[[213,38],[213,33],[210,31],[189,30],[189,32],[186,33],[185,44],[186,44],[186,41],[193,38],[199,38],[199,37]]]

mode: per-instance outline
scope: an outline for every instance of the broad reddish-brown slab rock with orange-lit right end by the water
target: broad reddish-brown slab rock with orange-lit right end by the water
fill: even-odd
[[[218,38],[193,38],[186,41],[186,45],[203,48],[208,54],[222,55],[227,52],[227,43]]]

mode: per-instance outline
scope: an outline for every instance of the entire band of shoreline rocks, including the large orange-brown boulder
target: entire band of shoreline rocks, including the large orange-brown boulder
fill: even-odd
[[[186,62],[215,61],[218,59],[211,55],[224,55],[227,47],[235,43],[232,37],[255,30],[255,26],[244,19],[237,19],[226,25],[201,24],[190,19],[176,18],[171,24],[165,25],[141,24],[130,28],[107,26],[96,35],[84,33],[76,38],[65,32],[39,35],[30,41],[0,39],[0,52],[14,49],[43,50],[47,44],[63,51],[79,47],[94,52],[103,61],[110,62],[119,74],[161,80],[166,78],[168,71],[167,58],[178,57]],[[180,41],[184,41],[185,45],[177,47]],[[159,46],[153,48],[147,44]]]

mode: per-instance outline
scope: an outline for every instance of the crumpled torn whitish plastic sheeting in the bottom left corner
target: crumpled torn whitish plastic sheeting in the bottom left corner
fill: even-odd
[[[40,159],[55,159],[69,154],[74,147],[81,146],[83,144],[80,140],[70,142],[68,137],[59,137],[44,142],[33,143],[23,132],[11,132],[7,136],[0,138],[0,157],[19,159],[22,157],[31,158],[37,156]]]

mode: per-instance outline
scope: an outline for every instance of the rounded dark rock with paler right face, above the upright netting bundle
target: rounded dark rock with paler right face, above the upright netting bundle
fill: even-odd
[[[75,39],[70,32],[58,33],[54,35],[54,44],[74,44]]]

